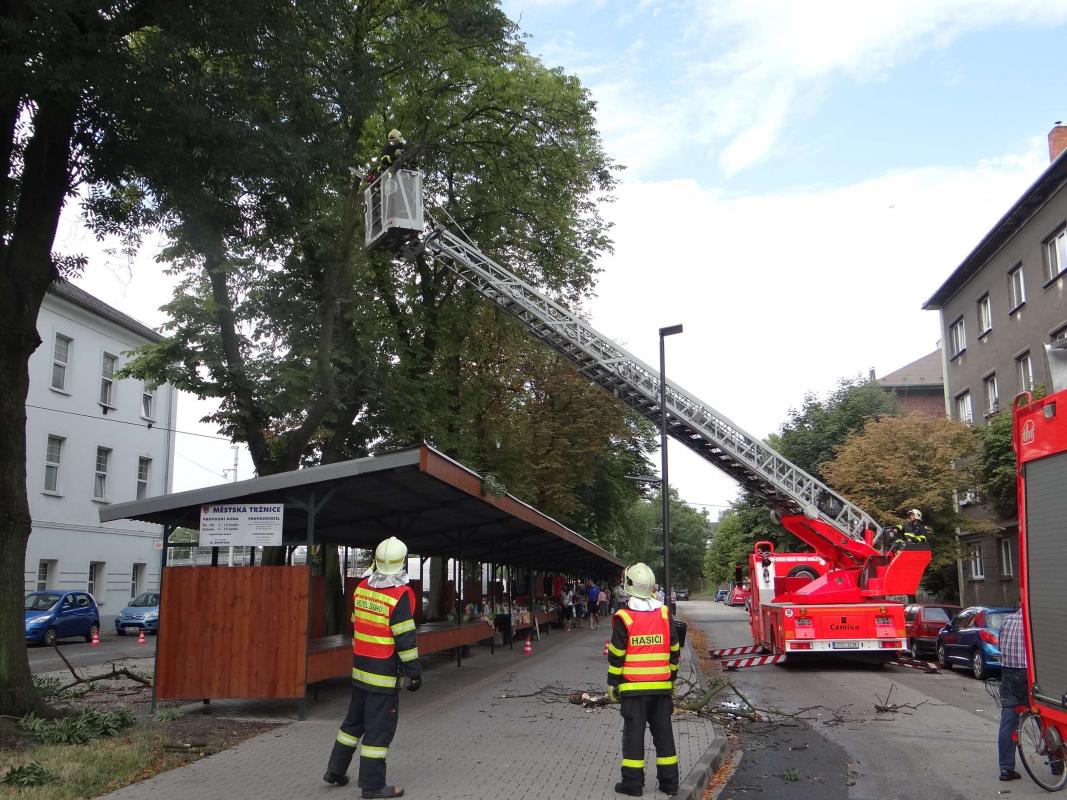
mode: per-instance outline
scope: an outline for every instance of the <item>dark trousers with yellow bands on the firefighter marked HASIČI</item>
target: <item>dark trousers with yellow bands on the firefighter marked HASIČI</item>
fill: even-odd
[[[678,751],[674,750],[674,732],[670,725],[673,700],[670,694],[623,697],[619,701],[622,713],[622,784],[627,789],[644,786],[644,726],[652,732],[656,748],[656,781],[659,788],[673,791],[678,788]]]

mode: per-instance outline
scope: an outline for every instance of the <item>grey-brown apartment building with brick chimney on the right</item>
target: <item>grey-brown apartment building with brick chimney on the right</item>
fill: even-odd
[[[1051,385],[1045,346],[1067,337],[1065,150],[1067,126],[1057,123],[1049,133],[1049,167],[923,306],[941,314],[953,419],[985,425],[1008,412],[1019,393]],[[970,502],[965,513],[988,511]],[[1018,521],[997,523],[997,535],[960,533],[965,606],[1018,603]]]

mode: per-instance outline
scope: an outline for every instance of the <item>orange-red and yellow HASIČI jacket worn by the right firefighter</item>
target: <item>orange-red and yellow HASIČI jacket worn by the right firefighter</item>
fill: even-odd
[[[608,685],[625,694],[670,694],[679,651],[666,606],[654,611],[621,608],[611,621]]]

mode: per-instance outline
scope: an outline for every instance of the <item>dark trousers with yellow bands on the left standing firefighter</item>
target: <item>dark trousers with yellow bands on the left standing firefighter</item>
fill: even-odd
[[[382,788],[385,785],[385,756],[396,735],[399,716],[400,699],[396,693],[377,694],[353,686],[348,714],[340,723],[327,769],[337,775],[345,774],[359,748],[360,788]]]

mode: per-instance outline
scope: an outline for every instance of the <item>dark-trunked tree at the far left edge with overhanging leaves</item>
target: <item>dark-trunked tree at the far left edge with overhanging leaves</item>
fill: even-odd
[[[0,4],[0,409],[10,422],[0,432],[0,714],[35,702],[20,613],[30,534],[27,365],[41,341],[36,318],[45,292],[83,263],[77,254],[52,250],[60,213],[81,191],[111,194],[113,219],[138,215],[137,192],[121,191],[129,186],[131,163],[116,144],[140,127],[150,98],[190,79],[190,64],[166,55],[176,43],[195,52],[258,52],[266,65],[269,43],[287,42],[298,16],[282,0]],[[146,53],[160,57],[157,68],[145,69]],[[153,131],[160,151],[172,132],[165,126]],[[103,219],[100,225],[116,230]]]

